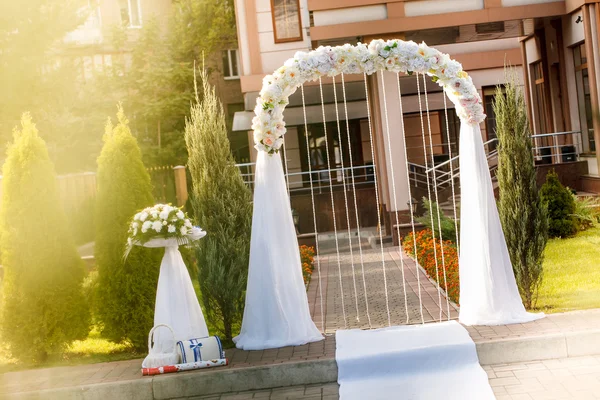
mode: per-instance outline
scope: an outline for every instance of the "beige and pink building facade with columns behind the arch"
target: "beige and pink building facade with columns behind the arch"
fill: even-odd
[[[599,91],[596,77],[600,76],[598,0],[236,0],[235,6],[245,111],[236,113],[234,130],[247,136],[250,148],[252,110],[262,79],[296,51],[321,45],[368,43],[378,38],[425,41],[461,62],[473,78],[488,115],[481,130],[491,168],[496,146],[492,104],[496,86],[507,79],[504,66],[511,65],[525,89],[536,164],[540,168],[560,164],[566,175],[577,173],[571,181],[578,189],[600,192],[596,157],[600,130],[594,117]],[[321,214],[321,226],[317,229],[331,230],[333,215],[344,212],[341,193],[346,185],[340,175],[343,170],[344,177],[349,176],[351,155],[353,171],[359,177],[356,187],[360,224],[375,225],[377,215],[372,211],[374,207],[368,206],[375,198],[375,161],[380,175],[379,202],[385,210],[389,232],[392,213],[397,209],[406,214],[409,200],[407,191],[399,190],[394,201],[392,188],[406,188],[410,181],[413,197],[420,198],[423,188],[419,184],[423,182],[419,176],[425,172],[425,159],[432,158],[436,165],[443,165],[451,152],[456,155],[459,121],[453,106],[450,102],[445,104],[443,93],[435,84],[417,88],[414,77],[400,78],[404,107],[400,121],[399,113],[386,113],[384,104],[387,99],[388,106],[396,106],[395,74],[369,77],[368,93],[362,76],[345,78],[349,121],[347,125],[344,121],[341,128],[336,126],[338,120],[344,120],[336,107],[336,103],[341,103],[339,79],[336,85],[330,78],[323,79],[322,89],[318,83],[305,85],[304,99],[299,93],[290,98],[285,112],[284,159],[292,207],[301,214],[308,213],[312,201],[308,193],[310,160],[313,183],[317,182],[318,188],[317,214]],[[422,96],[417,93],[424,90],[429,99],[433,157],[421,142]],[[373,141],[368,114],[372,116]],[[404,162],[404,144],[397,139],[400,135],[395,135],[400,122],[406,129],[408,164]],[[389,146],[383,136],[386,125],[391,127]],[[338,131],[341,137],[348,137],[347,143],[341,137],[336,139]],[[255,155],[251,150],[252,160]],[[391,173],[393,163],[395,174]],[[405,165],[410,170],[408,178],[402,170]],[[331,179],[327,169],[337,169],[331,171]],[[328,191],[335,192],[335,207],[328,205]],[[444,198],[447,197],[446,193]],[[341,228],[346,220],[352,218],[338,218]],[[300,233],[312,232],[310,218],[300,218],[299,225]]]

